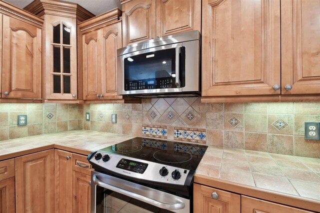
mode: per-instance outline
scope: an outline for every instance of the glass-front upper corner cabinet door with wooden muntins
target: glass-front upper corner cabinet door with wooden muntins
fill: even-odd
[[[51,36],[46,38],[50,54],[46,55],[49,64],[45,63],[45,98],[77,99],[76,22],[53,19],[48,30]]]

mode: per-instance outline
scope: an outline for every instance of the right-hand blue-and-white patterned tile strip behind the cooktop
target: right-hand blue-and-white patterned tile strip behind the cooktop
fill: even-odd
[[[174,139],[188,142],[205,143],[205,129],[174,127]]]

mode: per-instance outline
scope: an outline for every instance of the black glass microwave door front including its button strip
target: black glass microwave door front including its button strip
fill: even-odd
[[[124,90],[176,88],[175,48],[124,58]]]

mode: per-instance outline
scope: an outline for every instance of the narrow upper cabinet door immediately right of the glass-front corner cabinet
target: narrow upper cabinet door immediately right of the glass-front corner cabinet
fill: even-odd
[[[83,99],[85,100],[97,99],[96,95],[101,91],[99,32],[100,30],[96,30],[82,36]]]

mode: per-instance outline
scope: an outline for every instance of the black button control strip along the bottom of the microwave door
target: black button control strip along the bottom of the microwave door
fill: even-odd
[[[176,88],[174,77],[125,81],[124,90]]]

